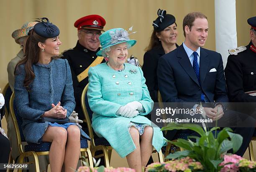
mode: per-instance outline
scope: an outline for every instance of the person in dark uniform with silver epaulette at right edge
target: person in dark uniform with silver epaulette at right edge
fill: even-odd
[[[248,46],[241,46],[229,50],[228,62],[225,68],[225,77],[228,88],[228,96],[231,102],[256,102],[256,16],[247,20],[251,25]],[[246,108],[254,110],[255,104]],[[248,111],[247,111],[248,112]],[[253,111],[251,111],[253,112]]]

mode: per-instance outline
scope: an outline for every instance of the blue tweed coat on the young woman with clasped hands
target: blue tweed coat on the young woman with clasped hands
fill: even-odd
[[[51,104],[61,102],[70,116],[75,107],[72,76],[67,60],[53,59],[49,64],[34,64],[33,71],[36,75],[30,85],[31,91],[23,86],[25,78],[24,65],[16,70],[15,76],[15,102],[18,114],[22,117],[22,129],[26,142],[41,142],[41,137],[47,129],[49,122],[36,122],[45,111],[51,109]],[[81,130],[81,135],[90,137]]]

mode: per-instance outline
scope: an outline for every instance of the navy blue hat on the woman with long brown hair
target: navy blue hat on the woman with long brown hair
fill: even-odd
[[[34,31],[44,38],[54,38],[59,35],[59,28],[50,23],[48,18],[42,18],[41,21],[38,21],[34,26]]]

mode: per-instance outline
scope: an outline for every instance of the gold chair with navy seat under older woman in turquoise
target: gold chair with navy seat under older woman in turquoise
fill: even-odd
[[[111,153],[112,153],[113,148],[110,146],[109,142],[105,138],[97,137],[97,135],[95,134],[95,132],[92,129],[91,124],[92,124],[92,113],[93,112],[90,109],[90,106],[88,103],[87,89],[88,89],[88,84],[84,87],[84,90],[82,92],[81,105],[82,105],[82,110],[84,112],[84,117],[85,117],[84,122],[86,122],[86,124],[87,124],[89,136],[91,138],[90,149],[91,149],[93,157],[95,157],[95,158],[104,157],[105,167],[109,167]],[[95,156],[95,152],[97,152],[97,151],[102,151],[103,153]],[[156,153],[156,150],[153,150],[152,153]],[[161,150],[158,153],[158,158],[159,158],[159,162],[164,162]]]

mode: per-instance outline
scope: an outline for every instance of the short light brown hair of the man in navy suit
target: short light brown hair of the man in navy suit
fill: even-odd
[[[203,13],[200,13],[200,12],[188,13],[183,19],[183,34],[185,37],[186,37],[185,26],[187,25],[189,27],[189,30],[191,31],[191,27],[193,26],[196,18],[206,18],[207,19],[207,17]]]

